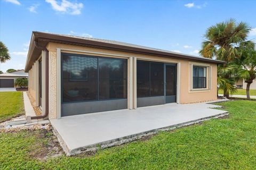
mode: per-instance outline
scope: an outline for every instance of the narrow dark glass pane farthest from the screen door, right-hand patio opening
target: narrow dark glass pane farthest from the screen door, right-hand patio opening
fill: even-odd
[[[137,97],[149,97],[149,62],[137,61]]]

